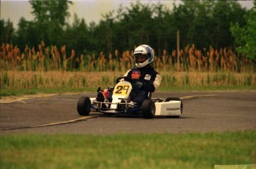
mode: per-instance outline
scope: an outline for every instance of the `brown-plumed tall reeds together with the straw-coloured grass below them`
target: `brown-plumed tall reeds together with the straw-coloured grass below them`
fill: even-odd
[[[115,79],[134,66],[132,51],[114,55],[67,56],[65,46],[45,47],[23,52],[12,44],[2,44],[0,52],[1,88],[97,87],[114,85]],[[194,45],[156,56],[154,67],[162,75],[162,87],[188,86],[256,86],[255,63],[245,56],[236,56],[228,48],[197,50]]]

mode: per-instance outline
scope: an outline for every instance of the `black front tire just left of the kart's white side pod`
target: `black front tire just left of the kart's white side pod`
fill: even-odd
[[[151,99],[147,99],[142,103],[141,111],[144,119],[153,119],[154,113],[156,112],[156,106]]]

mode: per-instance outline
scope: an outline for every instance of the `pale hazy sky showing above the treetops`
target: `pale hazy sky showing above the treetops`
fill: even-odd
[[[174,3],[180,3],[180,1],[174,0],[140,0],[143,4],[147,3],[159,3],[164,4],[166,7],[171,9]],[[91,21],[95,21],[96,24],[99,23],[99,20],[102,19],[102,14],[110,12],[111,10],[116,11],[119,9],[119,6],[122,4],[122,7],[129,7],[131,3],[136,3],[136,0],[73,0],[73,4],[69,5],[70,17],[68,22],[73,23],[74,13],[78,16],[79,19],[85,19],[87,24],[90,24]],[[252,8],[253,1],[239,1],[242,7]],[[32,21],[34,19],[31,14],[32,8],[28,0],[1,0],[1,10],[0,18],[7,21],[13,22],[13,27],[17,27],[19,19],[22,16],[27,21]]]

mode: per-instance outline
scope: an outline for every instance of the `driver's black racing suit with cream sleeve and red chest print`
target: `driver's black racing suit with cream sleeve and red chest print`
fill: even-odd
[[[149,94],[153,93],[161,84],[160,74],[150,64],[141,68],[134,67],[128,70],[124,76],[131,77],[134,82],[142,83],[142,87],[131,90],[131,101],[136,102],[138,106],[141,106],[145,99],[149,99]]]

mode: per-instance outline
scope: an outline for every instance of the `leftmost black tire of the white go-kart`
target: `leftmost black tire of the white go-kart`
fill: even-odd
[[[85,96],[79,98],[77,102],[77,112],[80,116],[88,116],[91,111],[91,99]]]

